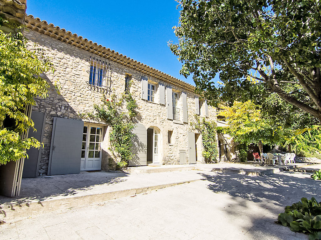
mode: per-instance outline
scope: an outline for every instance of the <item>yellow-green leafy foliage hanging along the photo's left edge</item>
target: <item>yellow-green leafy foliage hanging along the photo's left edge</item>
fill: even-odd
[[[3,24],[11,26],[0,19]],[[49,85],[39,75],[53,68],[40,49],[30,50],[26,44],[20,31],[0,30],[0,164],[28,157],[26,149],[41,147],[34,138],[22,139],[34,126],[24,109],[35,104],[34,97],[47,96]]]

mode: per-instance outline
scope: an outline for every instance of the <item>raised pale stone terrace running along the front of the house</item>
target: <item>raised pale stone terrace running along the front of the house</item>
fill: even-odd
[[[155,189],[219,177],[220,173],[264,176],[294,167],[296,166],[262,167],[233,163],[165,165],[133,167],[130,172],[81,172],[27,178],[22,180],[20,197],[0,196],[0,213],[3,213],[0,214],[0,219],[4,216],[6,219],[16,219],[31,213],[39,214],[134,196]]]

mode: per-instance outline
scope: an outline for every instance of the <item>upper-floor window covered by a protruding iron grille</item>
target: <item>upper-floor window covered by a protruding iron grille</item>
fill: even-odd
[[[89,84],[107,88],[107,74],[109,64],[105,61],[90,58]]]

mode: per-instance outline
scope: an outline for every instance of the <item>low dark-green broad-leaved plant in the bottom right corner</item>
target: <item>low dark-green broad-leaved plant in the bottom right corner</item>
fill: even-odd
[[[300,202],[286,206],[277,222],[293,232],[309,234],[309,240],[321,239],[321,203],[314,197],[311,200],[303,197]]]

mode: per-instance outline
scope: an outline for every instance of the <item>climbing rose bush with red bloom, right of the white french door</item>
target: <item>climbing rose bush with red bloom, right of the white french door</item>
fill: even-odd
[[[134,129],[133,118],[136,116],[137,104],[130,93],[123,93],[117,101],[116,95],[111,96],[112,100],[102,99],[102,104],[94,104],[94,111],[81,114],[96,121],[102,121],[111,126],[109,132],[110,146],[117,162],[117,170],[128,166],[128,161],[132,159],[132,130]],[[125,112],[123,109],[126,102]]]

